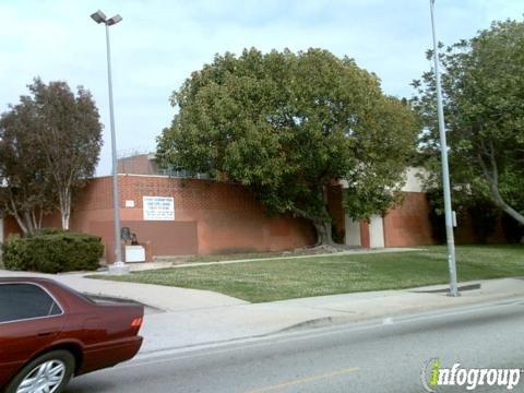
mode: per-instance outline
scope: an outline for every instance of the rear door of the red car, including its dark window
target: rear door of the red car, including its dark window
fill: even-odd
[[[66,315],[36,283],[0,284],[0,386],[63,330]]]

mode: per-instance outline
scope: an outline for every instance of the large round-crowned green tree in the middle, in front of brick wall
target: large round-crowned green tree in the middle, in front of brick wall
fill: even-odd
[[[410,109],[374,74],[321,49],[216,56],[171,104],[160,163],[243,184],[269,213],[309,219],[319,243],[332,243],[326,188],[347,181],[354,218],[384,212],[416,134]]]

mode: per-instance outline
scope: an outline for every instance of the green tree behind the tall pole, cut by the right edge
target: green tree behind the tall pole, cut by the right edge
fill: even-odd
[[[432,52],[428,52],[428,58]],[[495,22],[441,55],[454,193],[489,199],[524,224],[524,23]],[[434,76],[415,81],[414,106],[427,132],[426,164],[438,168]]]

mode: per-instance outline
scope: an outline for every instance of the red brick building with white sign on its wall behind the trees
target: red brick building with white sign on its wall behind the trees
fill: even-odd
[[[270,217],[264,207],[242,187],[206,179],[174,178],[158,172],[151,155],[119,163],[121,226],[136,234],[150,259],[240,251],[281,251],[311,246],[311,224],[290,215]],[[130,174],[139,172],[139,174]],[[329,190],[329,207],[340,241],[354,247],[408,247],[431,245],[429,206],[410,168],[403,189],[404,202],[384,217],[353,222],[342,209],[344,184]],[[59,226],[58,214],[46,217],[45,226]],[[458,241],[471,241],[471,224],[457,231]],[[111,177],[92,179],[75,201],[72,230],[100,236],[107,261],[112,262]],[[0,221],[0,239],[20,231],[15,222]]]

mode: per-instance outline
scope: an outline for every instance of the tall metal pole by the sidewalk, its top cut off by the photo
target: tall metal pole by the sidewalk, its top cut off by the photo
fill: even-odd
[[[440,86],[439,49],[434,32],[434,0],[430,1],[431,29],[433,34],[434,80],[437,84],[437,112],[439,116],[440,155],[442,159],[442,186],[444,189],[445,238],[448,241],[448,266],[450,270],[450,296],[458,296],[456,286],[455,240],[453,236],[453,212],[451,207],[450,169],[448,164],[448,143],[445,141],[444,110],[442,109],[442,88]]]

